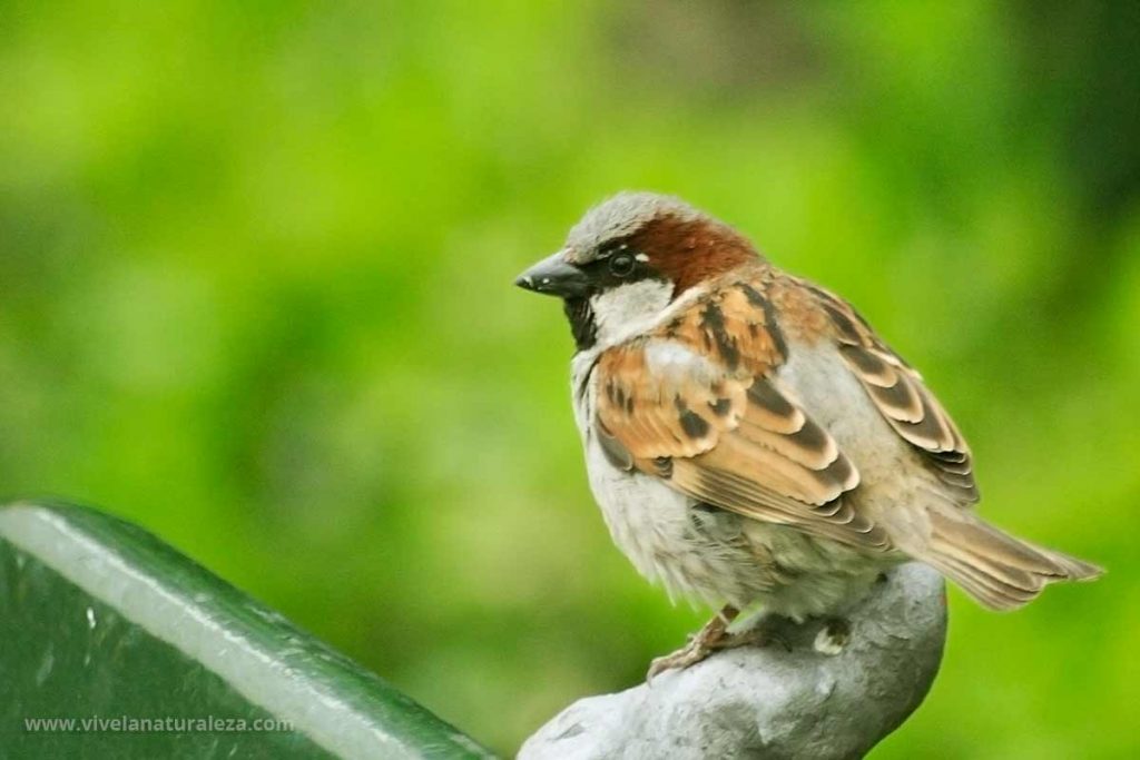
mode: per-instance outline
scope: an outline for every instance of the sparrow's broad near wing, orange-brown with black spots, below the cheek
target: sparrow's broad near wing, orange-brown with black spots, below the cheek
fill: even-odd
[[[887,549],[844,496],[858,472],[836,440],[773,385],[787,348],[757,281],[727,281],[653,333],[597,359],[596,426],[610,461],[701,501]]]

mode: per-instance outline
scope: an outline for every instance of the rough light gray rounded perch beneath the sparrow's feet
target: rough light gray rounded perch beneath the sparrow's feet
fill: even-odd
[[[861,758],[934,683],[946,639],[942,578],[902,565],[847,621],[847,641],[836,647],[834,623],[762,619],[787,647],[719,652],[652,685],[579,700],[519,758]]]

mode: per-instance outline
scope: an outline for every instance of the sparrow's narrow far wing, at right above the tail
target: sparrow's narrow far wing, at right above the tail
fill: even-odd
[[[840,354],[887,423],[923,455],[951,498],[963,506],[977,502],[970,447],[918,370],[891,351],[849,303],[798,281],[826,313]]]

